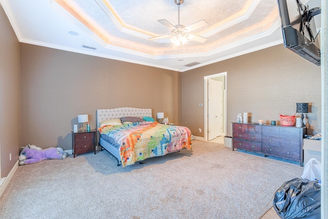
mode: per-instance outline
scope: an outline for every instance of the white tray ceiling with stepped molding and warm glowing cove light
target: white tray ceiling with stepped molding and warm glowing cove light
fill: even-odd
[[[192,33],[208,39],[180,47],[148,39],[171,33],[159,19],[178,24],[174,0],[0,2],[19,42],[176,71],[282,43],[276,0],[185,0],[180,24],[204,19],[208,25]]]

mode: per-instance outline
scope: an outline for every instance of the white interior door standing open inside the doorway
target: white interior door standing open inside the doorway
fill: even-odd
[[[208,141],[222,135],[223,83],[208,79]]]

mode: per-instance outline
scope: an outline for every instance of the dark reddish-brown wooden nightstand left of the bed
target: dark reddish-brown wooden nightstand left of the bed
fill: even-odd
[[[94,151],[96,154],[96,130],[90,132],[72,132],[73,154],[74,157],[78,154]]]

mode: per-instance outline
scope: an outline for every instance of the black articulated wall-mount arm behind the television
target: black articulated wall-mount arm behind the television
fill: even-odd
[[[311,42],[314,42],[317,36],[314,37],[311,27],[310,27],[310,22],[311,19],[315,16],[321,13],[321,8],[316,7],[312,8],[309,10],[309,5],[304,6],[300,0],[296,0],[299,8],[299,13],[300,17],[302,18],[302,25],[300,26],[300,32],[304,33],[304,26],[306,26],[306,29],[308,29],[310,37],[311,37]],[[301,11],[303,14],[301,14]]]

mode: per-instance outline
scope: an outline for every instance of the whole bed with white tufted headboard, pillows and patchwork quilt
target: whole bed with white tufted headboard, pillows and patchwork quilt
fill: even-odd
[[[117,166],[126,167],[150,157],[192,149],[191,131],[183,126],[157,123],[152,118],[152,109],[97,109],[96,125],[99,147],[116,158]]]

